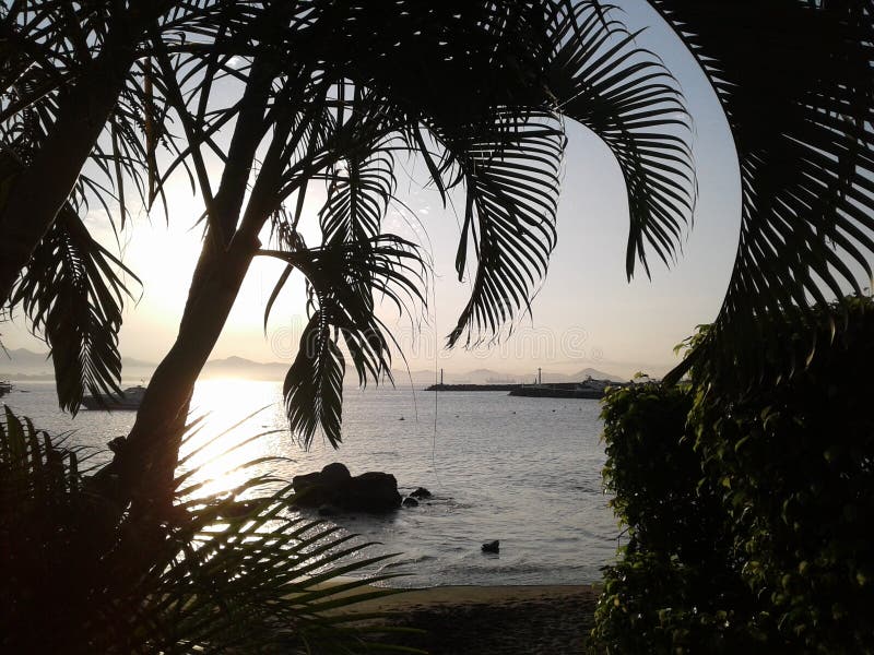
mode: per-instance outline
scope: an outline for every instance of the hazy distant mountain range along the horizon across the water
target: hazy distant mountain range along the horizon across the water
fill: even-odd
[[[149,378],[157,365],[151,361],[143,361],[132,357],[122,357],[122,374],[126,379]],[[203,367],[202,378],[236,378],[240,380],[283,380],[288,372],[291,362],[282,361],[252,361],[244,357],[226,357],[224,359],[211,359]],[[394,383],[403,386],[412,383],[416,386],[433,384],[439,381],[440,373],[433,370],[392,370]],[[511,382],[531,382],[536,377],[536,372],[524,374],[495,371],[492,369],[475,369],[465,373],[446,372],[444,381],[447,384],[495,384]],[[624,378],[606,373],[593,368],[584,368],[576,373],[565,374],[551,371],[543,371],[544,382],[580,382],[588,377],[595,380],[610,380],[612,382],[623,382]],[[353,381],[354,376],[347,379]],[[12,380],[52,380],[51,361],[47,353],[34,353],[26,348],[9,350],[9,358],[0,353],[0,379]]]

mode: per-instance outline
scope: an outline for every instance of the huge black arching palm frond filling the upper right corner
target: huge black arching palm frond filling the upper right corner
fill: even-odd
[[[709,78],[741,169],[742,223],[729,290],[706,356],[742,385],[763,380],[766,340],[872,279],[874,3],[652,0]],[[837,326],[836,326],[837,327]],[[804,366],[787,344],[777,380]],[[770,380],[773,381],[773,380]]]

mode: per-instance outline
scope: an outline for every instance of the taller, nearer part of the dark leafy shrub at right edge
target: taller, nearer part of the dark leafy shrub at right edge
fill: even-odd
[[[850,303],[850,330],[819,346],[792,379],[727,402],[700,393],[693,412],[708,479],[763,597],[792,652],[874,652],[874,308]]]

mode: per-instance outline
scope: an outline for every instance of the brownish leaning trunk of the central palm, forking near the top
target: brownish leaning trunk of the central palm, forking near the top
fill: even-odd
[[[110,444],[115,457],[94,478],[96,490],[115,500],[119,511],[128,502],[137,513],[152,513],[154,509],[161,514],[170,507],[194,382],[261,246],[261,227],[279,202],[281,153],[287,131],[274,130],[239,221],[247,180],[267,129],[264,114],[274,72],[273,64],[260,57],[252,63],[176,342],[152,376],[130,434]]]

